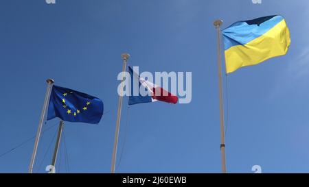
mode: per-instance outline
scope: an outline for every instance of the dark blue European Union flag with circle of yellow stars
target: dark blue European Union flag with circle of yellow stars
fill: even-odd
[[[103,110],[103,102],[97,97],[54,85],[49,99],[47,120],[58,117],[63,121],[98,124]]]

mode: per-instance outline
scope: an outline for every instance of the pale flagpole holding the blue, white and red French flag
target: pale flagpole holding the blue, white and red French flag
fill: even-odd
[[[128,61],[128,58],[130,55],[128,53],[122,54],[122,60],[124,60],[124,64],[122,66],[122,83],[121,83],[121,89],[120,89],[120,95],[118,99],[118,112],[117,112],[117,121],[116,121],[116,131],[115,131],[115,142],[114,142],[114,148],[113,148],[113,156],[112,156],[112,162],[111,162],[111,173],[115,173],[115,164],[116,164],[116,155],[117,155],[117,145],[118,145],[118,136],[119,136],[119,125],[120,125],[120,117],[122,115],[122,92],[124,88],[124,80],[125,80],[125,71],[126,71],[126,62]]]

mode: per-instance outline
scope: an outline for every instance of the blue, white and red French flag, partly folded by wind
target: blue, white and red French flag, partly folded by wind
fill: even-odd
[[[135,73],[130,66],[128,66],[128,71],[131,77],[131,96],[129,96],[129,105],[135,105],[138,103],[150,103],[155,101],[164,101],[166,103],[174,104],[177,103],[178,97],[176,95],[172,95],[170,92],[164,90],[156,84],[148,82],[144,78],[139,77],[139,75],[137,75],[137,73]],[[137,88],[138,95],[133,95],[133,82],[139,83],[139,87]],[[141,88],[141,86],[144,87],[144,90],[146,90],[146,92],[148,92],[146,96],[141,95],[141,93],[139,92],[139,88]]]

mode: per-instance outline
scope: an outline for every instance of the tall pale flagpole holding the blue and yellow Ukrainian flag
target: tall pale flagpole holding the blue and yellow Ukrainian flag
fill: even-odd
[[[219,99],[220,99],[220,151],[221,151],[221,164],[222,173],[227,173],[227,167],[225,163],[225,125],[223,116],[223,101],[222,101],[222,70],[221,70],[221,48],[220,48],[220,26],[222,25],[222,20],[214,21],[214,26],[217,29],[218,34],[218,78],[219,78]]]

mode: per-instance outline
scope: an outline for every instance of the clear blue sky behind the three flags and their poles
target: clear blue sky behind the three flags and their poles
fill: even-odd
[[[36,134],[45,79],[51,77],[58,86],[99,97],[110,111],[98,125],[65,123],[70,172],[110,172],[117,74],[121,53],[128,52],[129,64],[140,71],[192,71],[192,103],[133,105],[126,129],[124,98],[116,172],[219,173],[212,23],[222,18],[227,27],[282,14],[291,33],[288,54],[228,76],[227,169],[252,173],[259,164],[265,173],[308,173],[308,12],[306,0],[262,0],[260,5],[251,0],[1,1],[0,153]],[[47,121],[43,129],[58,121]],[[34,172],[43,173],[50,164],[54,142],[47,148],[56,129],[43,134]],[[0,172],[26,173],[33,145],[34,140],[1,157]],[[66,172],[64,148],[56,165],[60,172]]]

